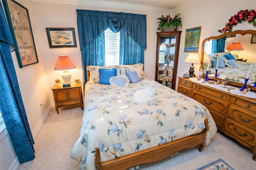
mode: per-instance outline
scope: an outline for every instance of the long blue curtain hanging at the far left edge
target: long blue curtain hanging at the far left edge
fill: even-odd
[[[10,53],[14,44],[0,2],[0,111],[19,162],[35,158],[34,140]]]

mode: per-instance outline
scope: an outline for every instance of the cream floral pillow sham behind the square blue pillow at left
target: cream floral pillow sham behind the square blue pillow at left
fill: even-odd
[[[99,69],[111,69],[114,68],[112,66],[86,66],[86,69],[89,70],[90,72],[90,79],[89,79],[89,84],[95,84],[100,81],[100,76],[99,76]]]

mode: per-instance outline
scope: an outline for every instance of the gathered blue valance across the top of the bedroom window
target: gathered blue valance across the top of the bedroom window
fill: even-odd
[[[146,15],[96,10],[76,10],[80,50],[107,28],[114,33],[125,29],[146,49]]]

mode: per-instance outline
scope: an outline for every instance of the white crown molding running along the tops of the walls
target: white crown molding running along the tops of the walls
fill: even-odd
[[[158,12],[174,12],[180,8],[184,8],[186,6],[190,6],[191,4],[196,4],[201,2],[202,0],[190,0],[189,2],[177,6],[173,9],[166,9],[166,8],[154,8],[148,7],[143,5],[131,5],[129,3],[124,2],[107,2],[101,1],[97,3],[97,1],[83,1],[83,0],[32,0],[32,2],[41,2],[41,3],[52,3],[52,4],[68,4],[68,5],[78,5],[78,6],[93,6],[93,7],[105,7],[105,8],[120,8],[120,9],[127,9],[127,10],[150,10],[150,11],[158,11]]]

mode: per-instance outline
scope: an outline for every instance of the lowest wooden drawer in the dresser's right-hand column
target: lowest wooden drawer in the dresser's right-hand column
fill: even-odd
[[[234,135],[235,137],[242,139],[246,143],[255,146],[256,144],[256,131],[253,131],[245,126],[242,126],[235,121],[228,119],[226,121],[224,129]]]

